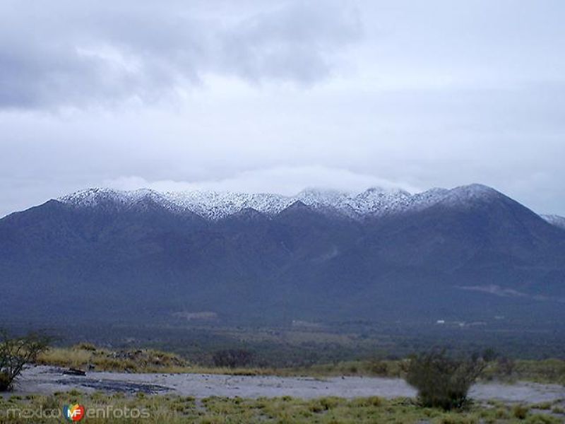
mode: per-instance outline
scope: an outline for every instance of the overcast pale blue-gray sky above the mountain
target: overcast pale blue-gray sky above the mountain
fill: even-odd
[[[565,215],[561,0],[3,0],[0,216],[482,183]]]

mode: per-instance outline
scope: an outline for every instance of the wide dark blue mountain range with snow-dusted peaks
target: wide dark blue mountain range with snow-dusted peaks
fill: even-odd
[[[561,325],[565,230],[472,184],[297,196],[88,189],[0,220],[0,318]]]

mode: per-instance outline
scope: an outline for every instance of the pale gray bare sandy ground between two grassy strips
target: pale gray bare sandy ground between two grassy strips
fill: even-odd
[[[57,367],[30,367],[23,371],[13,394],[54,391],[123,391],[134,394],[174,393],[203,398],[207,396],[381,396],[413,397],[416,391],[403,379],[379,377],[272,377],[203,374],[127,374],[121,372],[89,372],[85,377],[64,375]],[[475,384],[470,396],[478,401],[498,399],[504,402],[533,404],[565,399],[565,387],[557,384]]]

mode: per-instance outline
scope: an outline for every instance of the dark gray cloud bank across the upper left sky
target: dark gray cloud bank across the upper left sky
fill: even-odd
[[[361,36],[345,1],[252,6],[222,15],[177,1],[4,2],[0,107],[152,102],[207,74],[311,84]]]

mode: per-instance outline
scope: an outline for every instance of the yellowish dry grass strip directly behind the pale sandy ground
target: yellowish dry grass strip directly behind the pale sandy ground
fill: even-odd
[[[482,355],[484,358],[484,355]],[[245,357],[244,357],[245,358]],[[565,360],[509,360],[508,358],[492,358],[484,361],[481,379],[502,382],[518,380],[554,383],[565,385]],[[269,367],[258,366],[256,360],[244,363],[221,363],[207,365],[194,363],[174,353],[152,349],[131,349],[112,351],[98,348],[90,343],[79,343],[70,348],[50,348],[37,356],[40,365],[56,365],[59,367],[75,367],[88,370],[93,367],[97,371],[126,372],[191,372],[200,374],[230,375],[279,375],[282,377],[340,377],[367,376],[405,378],[410,360],[386,360],[371,358],[367,360],[335,361],[307,367]],[[511,363],[511,367],[509,367]]]

